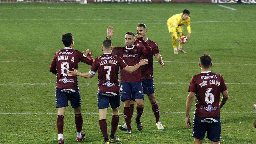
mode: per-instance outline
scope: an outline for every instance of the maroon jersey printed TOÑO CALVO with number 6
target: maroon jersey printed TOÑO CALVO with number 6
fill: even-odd
[[[189,92],[196,95],[195,115],[201,117],[220,116],[221,92],[227,90],[227,86],[220,74],[211,71],[202,72],[192,77]]]

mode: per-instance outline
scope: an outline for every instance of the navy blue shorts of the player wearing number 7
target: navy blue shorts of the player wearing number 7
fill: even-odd
[[[106,109],[110,107],[115,109],[120,106],[120,93],[119,92],[98,92],[98,109]]]

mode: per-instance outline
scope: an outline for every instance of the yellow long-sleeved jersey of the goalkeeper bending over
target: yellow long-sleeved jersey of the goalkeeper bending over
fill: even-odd
[[[191,33],[190,17],[187,20],[183,20],[182,19],[182,13],[179,13],[179,14],[176,14],[176,15],[173,15],[172,17],[170,17],[167,20],[167,24],[168,24],[168,26],[174,26],[175,28],[177,28],[178,26],[183,26],[184,24],[186,24],[188,33]],[[175,28],[173,29],[174,30],[173,32],[174,32],[174,35],[177,39],[178,37],[177,37],[177,32],[176,32]]]

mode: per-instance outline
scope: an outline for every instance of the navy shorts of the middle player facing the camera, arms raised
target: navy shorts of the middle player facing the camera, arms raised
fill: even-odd
[[[135,99],[144,100],[141,81],[120,82],[120,97],[122,102],[125,100],[135,101]]]

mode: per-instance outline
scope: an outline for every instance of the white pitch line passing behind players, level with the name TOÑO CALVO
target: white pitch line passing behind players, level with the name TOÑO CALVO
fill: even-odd
[[[55,85],[56,83],[0,83],[0,85]],[[98,83],[79,83],[79,85],[93,85]],[[154,84],[189,84],[189,83],[182,83],[182,82],[161,82],[161,83],[154,83]],[[230,85],[256,85],[256,83],[226,83]]]

